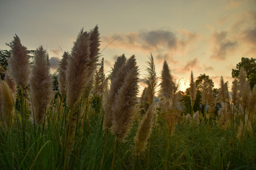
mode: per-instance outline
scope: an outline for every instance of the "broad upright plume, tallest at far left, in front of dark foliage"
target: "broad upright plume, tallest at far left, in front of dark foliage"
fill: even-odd
[[[10,72],[17,85],[22,88],[27,86],[29,77],[29,57],[27,48],[22,46],[17,35],[14,36],[13,46],[11,48],[11,57],[8,60]]]

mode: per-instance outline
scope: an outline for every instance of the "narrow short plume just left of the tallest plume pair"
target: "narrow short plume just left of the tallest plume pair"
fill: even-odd
[[[62,56],[62,60],[59,64],[59,76],[58,76],[58,83],[59,83],[59,90],[61,95],[66,94],[66,69],[67,69],[67,60],[68,60],[69,54],[68,52],[64,52]]]

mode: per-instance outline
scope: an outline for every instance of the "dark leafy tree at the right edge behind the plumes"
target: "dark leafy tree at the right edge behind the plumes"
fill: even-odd
[[[243,67],[247,73],[248,81],[250,82],[251,88],[256,85],[256,59],[244,58],[242,57],[241,62],[239,62],[236,66],[237,69],[232,69],[232,77],[238,77],[240,68]]]

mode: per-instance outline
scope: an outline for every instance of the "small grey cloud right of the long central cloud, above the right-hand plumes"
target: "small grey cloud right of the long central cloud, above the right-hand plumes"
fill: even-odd
[[[221,31],[220,33],[214,32],[211,36],[211,41],[213,42],[212,55],[210,59],[226,59],[227,52],[234,50],[238,45],[237,41],[231,41],[227,39],[228,32]]]

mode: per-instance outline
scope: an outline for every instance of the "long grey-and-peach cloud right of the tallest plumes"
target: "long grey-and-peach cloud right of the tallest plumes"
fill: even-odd
[[[102,42],[109,43],[118,37],[118,35],[119,34],[103,36]],[[121,34],[121,36],[112,42],[109,47],[169,53],[169,55],[183,55],[188,51],[188,45],[192,44],[197,37],[197,34],[185,29],[175,30],[174,32],[166,30],[137,31]]]

